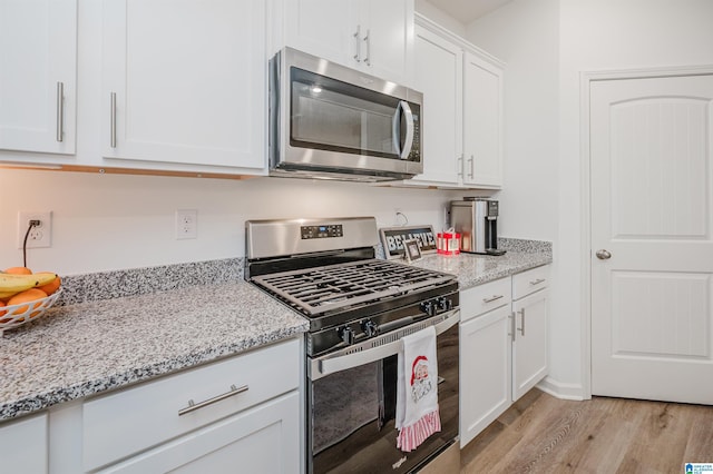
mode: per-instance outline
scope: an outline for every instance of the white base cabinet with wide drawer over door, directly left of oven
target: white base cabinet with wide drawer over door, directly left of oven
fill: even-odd
[[[300,472],[300,353],[295,339],[86,402],[82,470]]]

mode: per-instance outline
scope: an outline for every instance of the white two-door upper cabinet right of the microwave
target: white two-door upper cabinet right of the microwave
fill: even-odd
[[[423,172],[408,186],[502,186],[502,70],[496,58],[417,16],[414,87],[423,92]]]

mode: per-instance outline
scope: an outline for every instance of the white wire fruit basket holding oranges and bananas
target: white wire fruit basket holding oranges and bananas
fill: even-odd
[[[0,336],[7,329],[41,317],[61,293],[61,278],[51,271],[26,267],[0,271]]]

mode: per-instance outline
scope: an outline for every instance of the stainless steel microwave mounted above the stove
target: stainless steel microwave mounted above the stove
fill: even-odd
[[[284,48],[270,61],[270,175],[360,181],[423,171],[423,95]]]

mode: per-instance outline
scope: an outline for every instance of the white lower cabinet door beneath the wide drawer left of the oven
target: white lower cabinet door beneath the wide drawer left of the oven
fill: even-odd
[[[299,473],[299,413],[292,392],[100,472]]]

